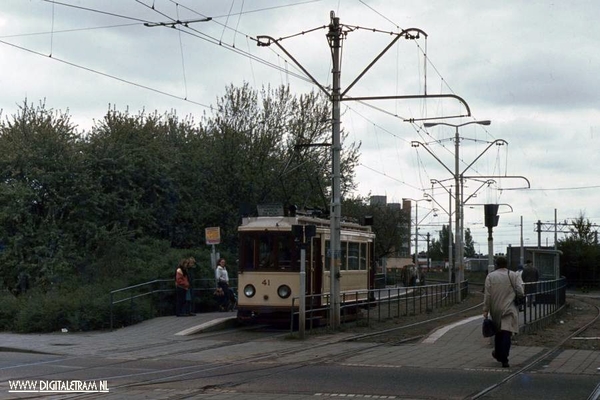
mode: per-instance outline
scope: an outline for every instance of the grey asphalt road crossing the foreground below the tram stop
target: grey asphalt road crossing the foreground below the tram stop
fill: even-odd
[[[181,346],[189,346],[181,342]],[[356,352],[351,350],[348,357]],[[226,348],[223,349],[226,351]],[[484,399],[588,399],[598,385],[594,375],[532,373],[489,392]],[[128,360],[108,356],[0,353],[0,398],[218,398],[304,399],[320,397],[469,399],[507,377],[502,369],[389,367],[348,363],[338,354],[280,363],[277,360],[197,362],[173,357]],[[106,381],[108,393],[9,393],[9,380]],[[217,397],[215,397],[217,396]]]

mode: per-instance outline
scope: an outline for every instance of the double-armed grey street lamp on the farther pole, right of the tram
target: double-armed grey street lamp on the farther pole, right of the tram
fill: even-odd
[[[455,194],[455,197],[454,197],[454,199],[455,199],[455,210],[456,210],[455,229],[454,229],[454,231],[455,231],[454,236],[456,238],[456,262],[454,264],[455,264],[455,268],[457,269],[457,272],[458,272],[457,273],[457,282],[458,282],[458,285],[459,285],[459,290],[458,290],[458,293],[459,293],[459,298],[458,299],[459,299],[459,301],[461,300],[460,285],[461,285],[461,283],[463,281],[464,266],[463,266],[463,249],[462,249],[462,246],[463,246],[463,244],[462,244],[463,237],[462,236],[463,235],[462,235],[462,229],[461,229],[461,221],[462,221],[462,215],[463,215],[462,203],[461,203],[461,196],[462,196],[462,190],[461,190],[462,176],[460,174],[459,164],[458,164],[458,162],[460,160],[460,157],[459,157],[460,137],[458,135],[458,128],[466,126],[466,125],[471,125],[471,124],[490,125],[491,123],[492,122],[490,120],[483,120],[483,121],[469,121],[469,122],[465,122],[463,124],[449,124],[449,123],[446,123],[446,122],[426,122],[426,123],[423,124],[423,126],[425,128],[431,128],[431,127],[436,126],[436,125],[445,125],[445,126],[450,126],[450,127],[454,127],[455,128],[455,135],[454,135],[454,174],[453,175],[454,175],[454,185],[456,186],[456,194]],[[485,152],[485,150],[484,150],[484,152]],[[437,159],[437,157],[436,157],[436,159]],[[475,161],[473,161],[473,163]],[[465,169],[465,171],[471,165],[473,165],[473,163],[469,164],[469,166]],[[446,167],[446,169],[448,169],[448,168]],[[464,173],[464,171],[463,171],[463,173]]]

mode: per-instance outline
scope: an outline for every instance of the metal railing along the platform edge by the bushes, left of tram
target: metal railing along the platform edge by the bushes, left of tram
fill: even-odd
[[[234,286],[231,286],[233,290],[236,289],[237,279],[230,279]],[[212,294],[215,290],[215,280],[214,279],[194,279],[192,283],[193,290],[193,298],[200,299],[200,303],[208,303],[208,299],[212,299]],[[129,302],[129,324],[134,323],[135,316],[135,300],[145,298],[147,296],[152,296],[157,293],[168,293],[172,296],[175,295],[175,285],[173,279],[155,279],[153,281],[139,283],[137,285],[127,286],[120,289],[115,289],[110,292],[110,330],[114,329],[114,316],[115,310],[114,306],[116,304]],[[154,301],[150,301],[150,307],[152,310],[158,309],[158,306],[155,303],[159,301],[154,299]],[[174,312],[174,304],[175,302],[170,299],[170,304],[173,304],[171,307],[173,310],[169,314]],[[210,308],[211,305],[206,305],[206,308]]]

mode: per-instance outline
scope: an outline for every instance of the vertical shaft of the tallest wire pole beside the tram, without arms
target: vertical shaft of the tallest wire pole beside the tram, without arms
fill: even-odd
[[[333,181],[332,181],[332,196],[331,196],[331,300],[329,324],[331,328],[338,329],[340,327],[340,220],[341,220],[341,183],[340,183],[340,38],[341,28],[340,19],[331,11],[331,23],[329,24],[329,41],[332,47],[333,57],[333,91],[332,91],[332,108],[333,108],[333,140],[332,140],[332,159],[333,159]]]

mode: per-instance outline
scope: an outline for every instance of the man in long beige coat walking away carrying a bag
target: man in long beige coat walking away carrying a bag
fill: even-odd
[[[496,259],[496,269],[485,278],[483,317],[491,316],[496,335],[492,356],[508,368],[508,355],[513,333],[519,333],[519,311],[515,306],[515,292],[523,296],[523,282],[514,271],[507,269],[504,257]]]

